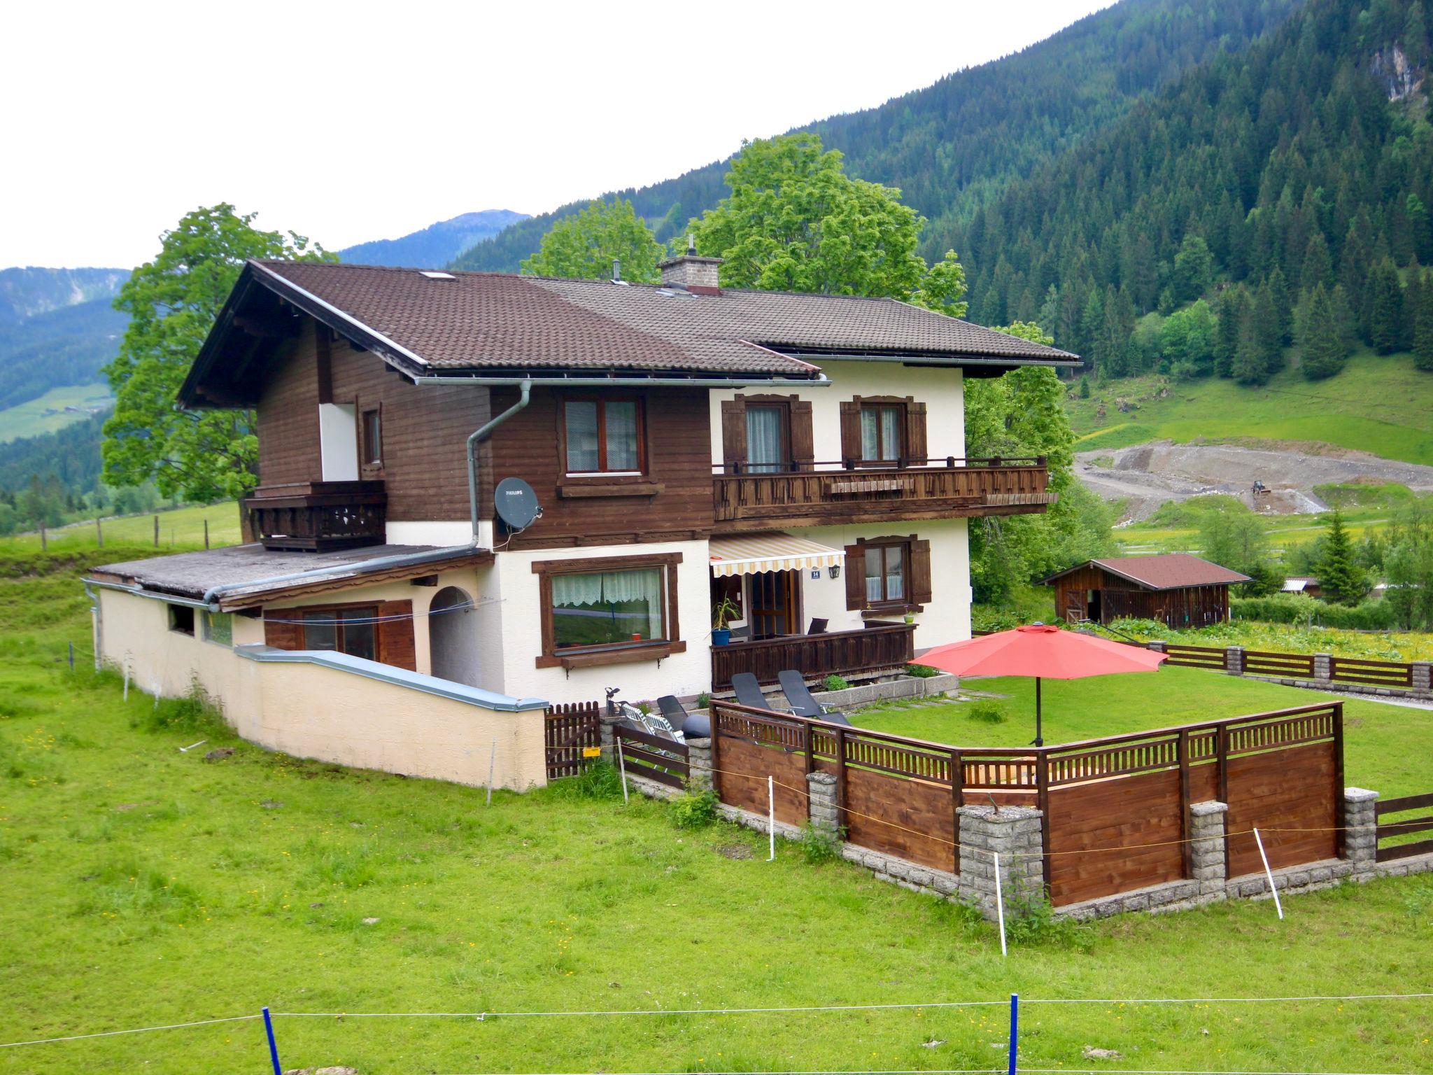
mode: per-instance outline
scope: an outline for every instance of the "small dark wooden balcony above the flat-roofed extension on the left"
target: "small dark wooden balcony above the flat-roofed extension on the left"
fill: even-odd
[[[265,549],[331,552],[383,545],[388,494],[383,482],[295,482],[259,486],[244,502]]]

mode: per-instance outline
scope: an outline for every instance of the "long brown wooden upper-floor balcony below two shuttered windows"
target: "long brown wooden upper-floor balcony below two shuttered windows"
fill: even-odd
[[[768,530],[818,523],[877,523],[1043,512],[1049,470],[1037,459],[931,459],[906,464],[800,463],[754,473],[728,464],[714,474],[722,530]]]

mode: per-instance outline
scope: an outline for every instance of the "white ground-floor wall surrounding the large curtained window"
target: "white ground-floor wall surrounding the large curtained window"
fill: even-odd
[[[542,608],[536,560],[569,560],[599,556],[649,556],[682,553],[676,565],[676,611],[686,652],[662,659],[596,668],[537,668],[542,652]],[[605,687],[620,687],[623,698],[636,701],[663,694],[698,694],[711,687],[711,566],[706,542],[661,542],[652,545],[599,545],[580,549],[502,552],[493,568],[500,601],[484,611],[483,634],[500,638],[504,658],[503,685],[489,689],[519,697],[536,695],[553,702],[602,701]]]

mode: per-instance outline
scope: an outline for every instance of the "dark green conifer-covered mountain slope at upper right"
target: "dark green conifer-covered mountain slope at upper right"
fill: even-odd
[[[1341,330],[1380,353],[1414,345],[1410,269],[1433,259],[1430,22],[1429,0],[1310,0],[1012,182],[954,232],[972,318],[1037,320],[1121,376],[1158,357],[1131,345],[1136,318],[1244,284],[1235,295],[1277,321],[1267,378],[1300,292],[1323,285],[1341,288]]]

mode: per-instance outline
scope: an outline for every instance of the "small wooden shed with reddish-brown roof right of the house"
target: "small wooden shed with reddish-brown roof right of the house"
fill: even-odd
[[[1055,586],[1055,615],[1070,624],[1135,618],[1197,628],[1227,621],[1230,586],[1248,580],[1199,556],[1172,552],[1088,560],[1050,575],[1045,585]]]

